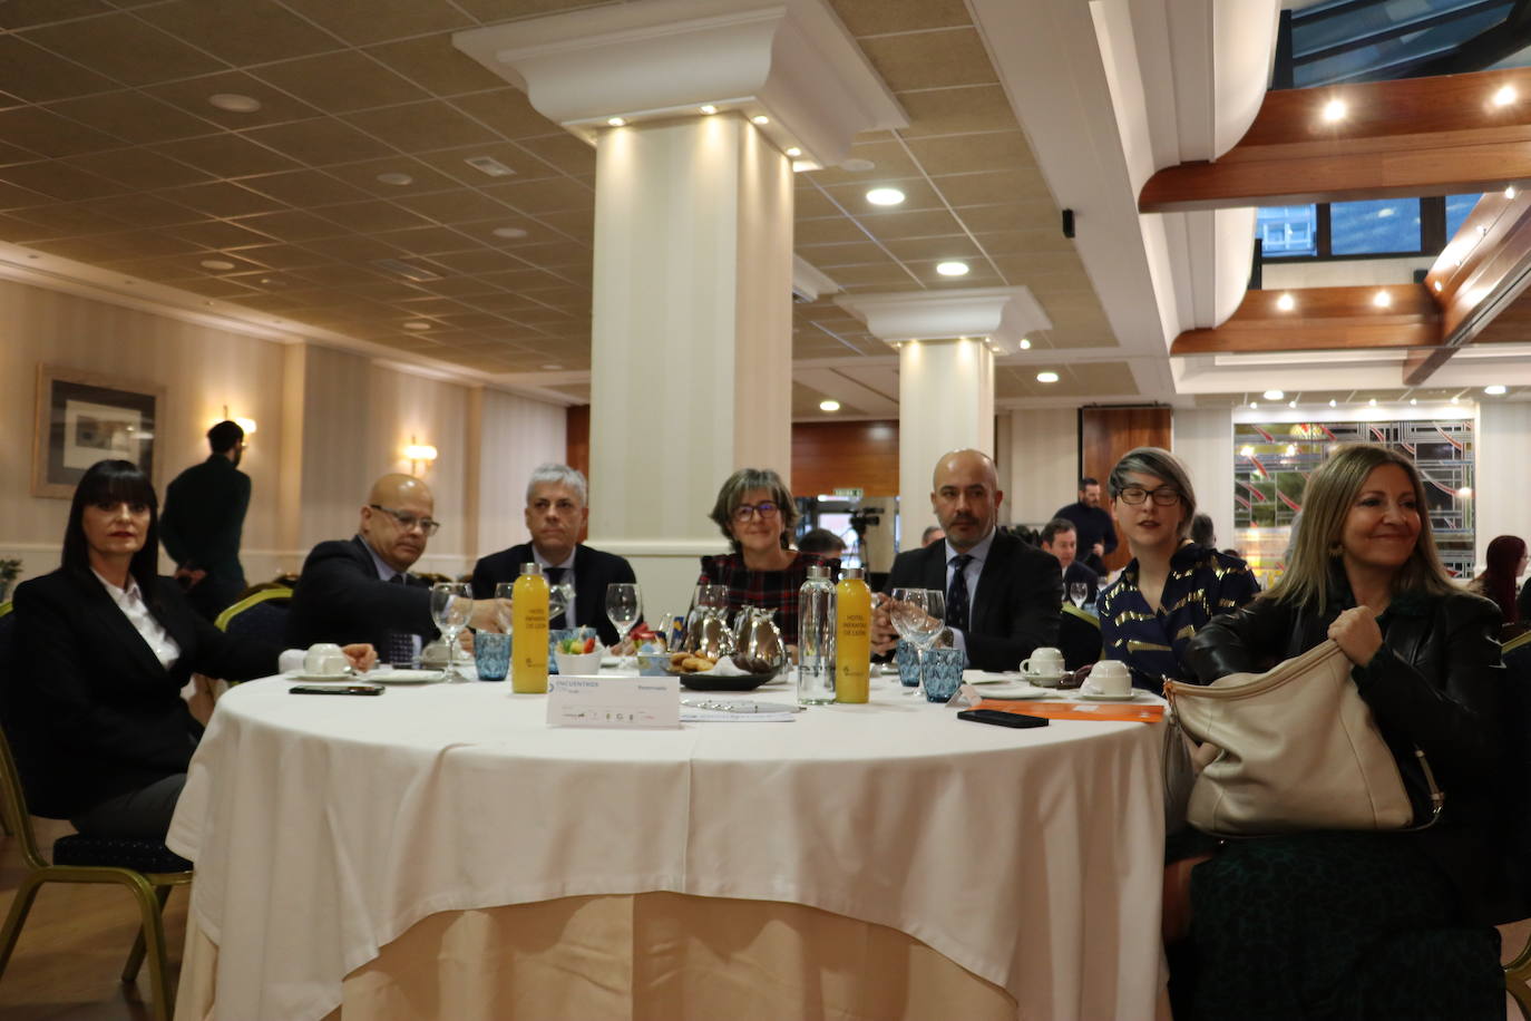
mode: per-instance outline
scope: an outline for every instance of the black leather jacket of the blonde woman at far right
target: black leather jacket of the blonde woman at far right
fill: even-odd
[[[1217,617],[1191,640],[1187,663],[1209,683],[1306,652],[1353,605],[1343,585],[1332,595],[1321,615],[1263,597]],[[1503,909],[1497,791],[1511,778],[1502,758],[1499,623],[1499,608],[1479,595],[1402,594],[1378,618],[1382,648],[1350,670],[1405,775],[1418,745],[1445,791],[1441,820],[1399,839],[1416,840],[1445,869],[1476,922]]]

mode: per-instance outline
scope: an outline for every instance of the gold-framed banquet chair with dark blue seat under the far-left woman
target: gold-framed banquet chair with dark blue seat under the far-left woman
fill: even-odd
[[[0,663],[9,658],[12,628],[9,617],[0,618]],[[164,909],[175,886],[191,882],[191,862],[158,840],[127,840],[110,837],[87,837],[78,833],[58,837],[54,842],[54,862],[43,859],[32,833],[32,816],[26,810],[26,793],[11,756],[11,742],[0,730],[0,811],[20,845],[21,865],[26,874],[17,886],[15,900],[0,928],[0,978],[5,978],[11,952],[15,951],[21,925],[26,922],[37,891],[43,883],[118,883],[132,891],[138,902],[142,926],[133,943],[127,963],[122,966],[122,981],[138,978],[138,969],[149,958],[149,989],[156,1021],[170,1021],[173,990],[167,975]]]

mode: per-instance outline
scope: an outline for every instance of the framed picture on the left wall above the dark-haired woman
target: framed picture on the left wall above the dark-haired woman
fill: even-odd
[[[158,487],[164,403],[153,383],[38,364],[32,496],[69,499],[86,468],[109,458],[132,461]]]

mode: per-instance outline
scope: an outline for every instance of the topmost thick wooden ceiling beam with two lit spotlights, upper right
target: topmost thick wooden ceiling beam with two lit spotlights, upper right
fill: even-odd
[[[1516,101],[1494,96],[1511,87]],[[1338,99],[1346,116],[1326,122]],[[1531,182],[1531,67],[1268,92],[1216,162],[1165,167],[1144,213],[1497,191]]]

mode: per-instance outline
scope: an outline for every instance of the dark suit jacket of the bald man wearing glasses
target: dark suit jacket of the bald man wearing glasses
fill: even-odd
[[[361,536],[314,546],[292,589],[288,644],[306,649],[315,641],[369,641],[387,649],[389,632],[436,638],[430,583],[413,576],[406,576],[403,585],[380,579]]]

